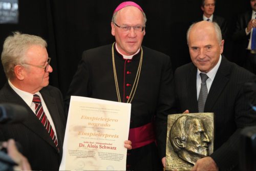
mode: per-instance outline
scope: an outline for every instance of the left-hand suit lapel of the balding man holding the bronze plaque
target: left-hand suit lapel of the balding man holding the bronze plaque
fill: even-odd
[[[188,80],[187,83],[187,88],[188,88],[188,96],[191,97],[190,99],[187,99],[190,101],[188,103],[188,109],[189,113],[196,113],[198,112],[198,103],[197,103],[197,67],[194,66],[193,63],[191,63],[190,67],[190,73],[187,75]],[[183,111],[184,112],[184,111]]]

